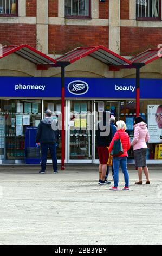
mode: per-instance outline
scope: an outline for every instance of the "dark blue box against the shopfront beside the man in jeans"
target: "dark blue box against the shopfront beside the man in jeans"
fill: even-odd
[[[25,163],[40,164],[41,149],[36,146],[37,127],[27,127],[25,132]]]

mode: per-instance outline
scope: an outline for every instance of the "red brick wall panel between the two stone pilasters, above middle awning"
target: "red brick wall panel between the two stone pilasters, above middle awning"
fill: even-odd
[[[108,27],[106,26],[48,26],[48,52],[63,54],[79,46],[108,47]]]

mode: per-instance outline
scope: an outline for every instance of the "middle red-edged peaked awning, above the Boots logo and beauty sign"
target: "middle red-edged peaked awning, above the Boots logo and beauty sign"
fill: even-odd
[[[94,57],[95,59],[100,60],[107,65],[113,66],[128,66],[132,63],[120,55],[112,52],[105,46],[99,45],[94,47],[77,47],[74,50],[67,52],[63,56],[56,59],[57,62],[69,62],[73,63],[76,60],[79,60],[87,55]]]

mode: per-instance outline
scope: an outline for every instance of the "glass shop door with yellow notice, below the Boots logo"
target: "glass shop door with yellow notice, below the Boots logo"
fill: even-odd
[[[92,163],[92,101],[68,101],[68,155],[69,163]]]

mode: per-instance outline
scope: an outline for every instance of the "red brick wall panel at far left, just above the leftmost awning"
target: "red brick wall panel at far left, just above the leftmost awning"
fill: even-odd
[[[36,25],[0,23],[0,31],[3,45],[29,44],[36,47]]]

